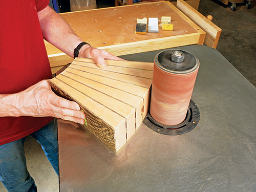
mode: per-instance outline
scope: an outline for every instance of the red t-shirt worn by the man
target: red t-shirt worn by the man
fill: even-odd
[[[49,0],[1,1],[0,94],[17,93],[52,78],[37,16],[48,4]],[[0,145],[35,132],[52,119],[0,117]]]

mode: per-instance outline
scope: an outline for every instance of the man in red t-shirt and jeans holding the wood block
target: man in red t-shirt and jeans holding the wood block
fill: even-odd
[[[26,136],[42,145],[58,174],[54,117],[84,124],[79,105],[56,96],[45,80],[52,74],[44,38],[71,57],[95,59],[100,68],[104,58],[119,59],[83,42],[48,4],[14,0],[0,6],[0,180],[8,191],[36,191],[26,167]]]

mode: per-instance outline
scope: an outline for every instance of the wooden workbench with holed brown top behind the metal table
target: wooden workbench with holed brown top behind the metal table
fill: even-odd
[[[74,32],[92,47],[120,56],[177,46],[203,44],[205,32],[172,3],[156,2],[61,13]],[[173,31],[162,31],[161,17],[171,16]],[[159,19],[159,33],[136,34],[137,18]],[[73,61],[45,41],[52,73]]]

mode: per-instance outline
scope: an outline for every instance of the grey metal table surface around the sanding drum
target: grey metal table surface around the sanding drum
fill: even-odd
[[[58,121],[60,191],[256,191],[256,89],[216,50],[185,46],[200,61],[194,130],[179,136],[141,125],[118,153]],[[159,51],[125,55],[151,61]]]

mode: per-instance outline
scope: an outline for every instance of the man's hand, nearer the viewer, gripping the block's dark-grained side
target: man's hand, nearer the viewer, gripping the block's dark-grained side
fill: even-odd
[[[53,93],[49,80],[42,80],[17,93],[15,105],[18,116],[52,116],[80,124],[84,124],[86,118],[76,102],[63,99]]]

